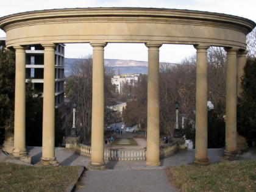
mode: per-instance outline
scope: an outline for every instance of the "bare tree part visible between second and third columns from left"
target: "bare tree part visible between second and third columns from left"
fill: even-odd
[[[71,66],[71,76],[66,81],[69,105],[77,103],[76,123],[81,125],[85,143],[90,143],[91,140],[92,63],[91,55],[76,60]]]

